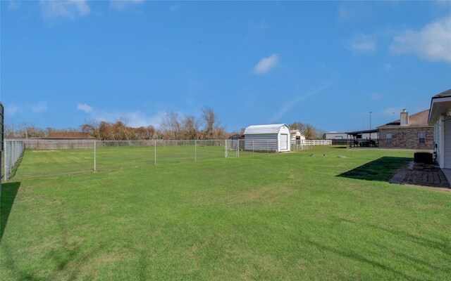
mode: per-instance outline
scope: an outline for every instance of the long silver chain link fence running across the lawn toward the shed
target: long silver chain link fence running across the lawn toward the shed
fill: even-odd
[[[14,141],[6,141],[13,143]],[[120,171],[125,168],[197,162],[227,157],[245,157],[259,152],[276,152],[271,141],[268,147],[256,150],[245,140],[185,140],[185,141],[47,141],[27,140],[24,161],[16,178],[37,178],[88,173]],[[300,145],[292,150],[302,150]],[[310,147],[311,148],[311,147]],[[6,152],[5,155],[8,155]],[[8,164],[9,166],[12,166]],[[5,164],[6,168],[6,164]],[[11,178],[9,176],[8,178]],[[5,177],[5,179],[7,179]]]

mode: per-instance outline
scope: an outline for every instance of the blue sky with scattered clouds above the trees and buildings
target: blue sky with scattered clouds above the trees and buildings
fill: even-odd
[[[369,129],[451,88],[451,4],[1,1],[6,124],[158,126],[204,105],[228,131]]]

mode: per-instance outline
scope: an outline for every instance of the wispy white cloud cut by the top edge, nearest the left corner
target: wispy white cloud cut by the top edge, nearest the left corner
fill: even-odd
[[[91,9],[86,0],[43,1],[39,2],[42,16],[52,18],[75,18],[78,15],[87,15]]]

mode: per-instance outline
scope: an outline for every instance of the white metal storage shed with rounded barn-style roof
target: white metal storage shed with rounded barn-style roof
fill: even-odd
[[[290,127],[286,124],[248,126],[245,150],[290,151]]]

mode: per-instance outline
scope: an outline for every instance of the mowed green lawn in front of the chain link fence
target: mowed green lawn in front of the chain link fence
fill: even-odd
[[[36,179],[20,166],[2,187],[1,280],[451,280],[451,192],[386,182],[412,156],[314,148]]]

